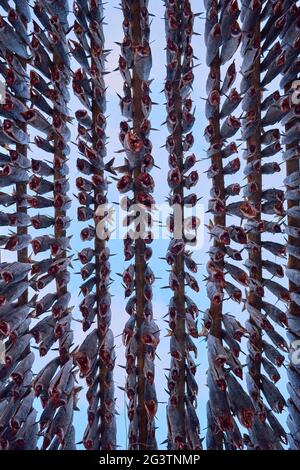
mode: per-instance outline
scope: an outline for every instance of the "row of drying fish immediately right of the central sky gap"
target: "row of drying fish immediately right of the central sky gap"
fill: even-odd
[[[198,338],[198,307],[189,297],[189,290],[198,293],[199,285],[194,276],[198,271],[192,257],[196,242],[199,219],[186,217],[185,208],[194,207],[199,198],[190,192],[198,183],[199,175],[194,165],[197,158],[192,153],[195,122],[191,92],[194,81],[194,34],[195,15],[189,1],[165,2],[165,32],[167,43],[167,76],[165,97],[168,152],[168,202],[170,210],[171,240],[166,253],[169,265],[169,287],[172,297],[168,307],[171,362],[168,372],[167,446],[170,450],[202,448],[200,423],[196,413],[198,384],[195,378]],[[193,236],[189,241],[183,230],[177,234],[176,210],[182,207],[183,227],[189,227]],[[174,232],[174,233],[173,233]],[[176,233],[176,238],[175,238]],[[177,238],[179,237],[179,238]]]

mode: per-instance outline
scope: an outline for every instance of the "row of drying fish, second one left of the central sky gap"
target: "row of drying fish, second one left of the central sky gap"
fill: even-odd
[[[83,2],[86,3],[86,2]],[[116,353],[111,323],[110,250],[105,240],[96,235],[101,217],[97,207],[107,204],[107,172],[115,173],[112,161],[106,163],[106,85],[102,2],[88,7],[74,3],[74,32],[70,41],[72,54],[80,68],[74,72],[72,88],[83,108],[76,110],[78,125],[76,179],[80,206],[78,220],[85,223],[80,232],[89,246],[78,253],[82,264],[80,286],[83,300],[79,305],[82,328],[88,332],[74,358],[87,391],[87,427],[83,436],[86,449],[116,448],[116,410],[113,369]]]

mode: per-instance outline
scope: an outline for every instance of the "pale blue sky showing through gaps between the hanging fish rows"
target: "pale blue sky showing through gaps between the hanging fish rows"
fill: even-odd
[[[191,1],[192,8],[194,12],[204,11],[204,6],[202,1]],[[71,2],[70,2],[71,4]],[[106,35],[106,48],[110,49],[112,52],[108,57],[107,62],[107,70],[112,71],[118,65],[118,58],[119,58],[119,47],[116,45],[116,42],[122,41],[122,12],[118,8],[118,1],[117,0],[110,0],[107,2],[105,6],[106,10],[106,23],[105,26],[105,35]],[[164,86],[164,79],[165,79],[165,32],[164,32],[164,22],[163,22],[163,15],[164,15],[164,4],[161,0],[150,0],[149,1],[149,11],[154,15],[152,27],[151,27],[151,47],[152,47],[152,56],[153,56],[153,68],[152,68],[152,78],[154,79],[151,90],[152,90],[152,100],[156,103],[159,103],[157,106],[153,107],[153,111],[151,114],[151,121],[152,127],[159,129],[159,132],[153,131],[151,134],[151,140],[153,142],[153,156],[157,165],[160,169],[155,168],[152,172],[153,178],[155,179],[155,192],[154,197],[158,203],[163,202],[165,197],[168,195],[168,187],[166,184],[166,175],[168,171],[168,155],[164,148],[161,148],[164,145],[165,139],[167,137],[167,129],[166,126],[162,126],[162,122],[165,121],[166,111],[164,106],[165,97],[161,93],[161,90]],[[195,31],[198,33],[203,34],[204,31],[204,20],[201,18],[197,18],[195,20]],[[198,67],[195,70],[195,82],[194,82],[194,90],[192,98],[195,103],[196,111],[196,123],[193,129],[194,136],[195,136],[195,146],[193,151],[197,155],[200,162],[197,164],[197,169],[200,174],[200,180],[198,186],[195,188],[196,192],[199,197],[203,197],[202,201],[204,206],[207,207],[208,196],[209,196],[209,189],[211,186],[211,181],[206,178],[205,171],[209,166],[209,160],[205,160],[205,149],[207,148],[207,144],[203,138],[203,131],[207,125],[207,121],[204,114],[205,108],[205,101],[203,98],[206,96],[205,92],[205,82],[206,77],[208,74],[208,69],[205,65],[205,47],[203,42],[203,36],[194,36],[193,40],[193,47],[195,56],[198,58]],[[239,53],[238,53],[239,54]],[[236,66],[237,69],[241,62],[239,55],[236,55]],[[229,62],[230,63],[230,62]],[[229,65],[228,63],[228,65]],[[75,68],[78,68],[77,65],[74,64]],[[226,71],[226,66],[223,69],[223,74]],[[116,158],[117,164],[122,164],[123,162],[123,154],[115,153],[120,150],[120,143],[118,140],[118,132],[119,132],[119,122],[122,119],[120,115],[119,109],[119,99],[117,97],[117,93],[122,94],[122,78],[119,72],[112,72],[106,76],[106,82],[108,85],[107,90],[107,109],[108,109],[108,126],[107,126],[107,134],[109,135],[109,143],[108,143],[108,156],[107,160],[112,157]],[[237,80],[237,84],[239,79]],[[276,86],[276,84],[275,84]],[[269,90],[270,92],[273,89]],[[72,110],[72,114],[75,113],[76,109],[81,108],[82,106],[79,102],[72,98],[70,103],[70,108]],[[240,111],[236,112],[236,116],[239,116]],[[75,141],[76,133],[73,133],[72,140]],[[33,152],[39,152],[34,146],[32,146]],[[241,152],[240,152],[241,154]],[[41,155],[39,155],[41,156]],[[241,156],[241,155],[240,155]],[[76,146],[71,146],[71,155],[70,155],[70,183],[71,183],[71,193],[76,194],[77,189],[75,187],[75,179],[79,176],[79,173],[76,170],[76,159],[78,157],[78,152],[76,150]],[[49,155],[47,155],[49,158]],[[242,160],[242,157],[241,157]],[[279,187],[281,186],[281,180],[283,176],[277,174],[276,176],[266,176],[264,177],[264,186],[265,188],[268,187]],[[226,179],[226,183],[230,184],[235,181],[241,182],[243,179],[242,170],[238,175],[234,177],[228,177]],[[243,184],[243,182],[241,183]],[[117,201],[119,198],[119,194],[116,191],[115,185],[111,184],[109,188],[109,199],[110,201]],[[233,202],[234,199],[232,199]],[[235,198],[235,200],[239,200],[239,198]],[[74,251],[80,251],[84,246],[88,246],[88,244],[83,244],[80,240],[80,230],[85,226],[84,223],[78,223],[76,221],[77,218],[77,200],[73,198],[72,208],[70,210],[70,217],[72,217],[73,222],[71,228],[69,229],[69,234],[73,236],[72,238],[72,248]],[[267,218],[267,216],[266,216]],[[208,222],[208,215],[206,214],[206,220],[202,221],[207,223]],[[234,219],[233,217],[228,218],[229,223],[239,223],[238,220]],[[35,233],[35,236],[40,235],[40,233]],[[265,237],[266,239],[270,237]],[[282,237],[276,237],[276,241],[282,241]],[[275,241],[275,240],[274,240]],[[165,256],[166,249],[167,249],[168,241],[166,240],[156,240],[154,241],[152,248],[153,248],[153,257],[151,259],[151,268],[156,274],[157,277],[164,278],[163,280],[158,279],[155,283],[154,288],[154,301],[153,301],[153,310],[154,316],[157,320],[157,323],[161,327],[161,343],[158,346],[157,354],[160,358],[156,360],[156,386],[157,386],[157,393],[158,399],[160,402],[158,413],[157,413],[157,441],[161,443],[165,440],[167,435],[166,429],[166,418],[165,418],[165,404],[167,401],[167,394],[165,392],[166,387],[166,380],[164,378],[165,368],[168,368],[170,355],[168,353],[168,338],[165,338],[165,331],[166,331],[166,323],[163,321],[163,317],[167,312],[167,305],[170,298],[170,291],[167,289],[161,289],[166,284],[167,278],[167,269],[168,266],[166,265],[164,260],[160,258]],[[200,283],[200,293],[197,295],[191,294],[200,310],[204,310],[208,307],[208,301],[206,298],[206,289],[205,283],[203,282],[203,278],[206,274],[205,264],[207,262],[207,249],[209,246],[209,237],[206,235],[204,240],[204,246],[201,251],[197,251],[195,253],[195,260],[201,264],[198,273],[198,281]],[[111,265],[112,265],[112,273],[122,272],[123,269],[127,266],[127,263],[123,260],[123,244],[119,240],[112,240],[110,242],[110,249],[112,253],[115,253],[115,256],[111,258]],[[11,254],[6,254],[1,250],[2,253],[2,260],[12,259]],[[14,254],[13,254],[14,256]],[[272,257],[273,259],[273,257]],[[78,262],[74,262],[74,273],[78,272],[80,269],[80,265]],[[113,302],[112,302],[112,330],[115,334],[115,341],[116,341],[116,351],[117,351],[117,361],[116,361],[116,368],[115,368],[115,385],[116,385],[116,396],[117,396],[117,409],[119,412],[118,416],[118,445],[120,448],[126,448],[126,435],[127,435],[127,428],[128,428],[128,421],[126,417],[125,411],[125,397],[124,393],[118,388],[118,386],[124,386],[125,383],[125,374],[124,370],[119,367],[119,365],[124,364],[124,348],[122,346],[120,334],[122,333],[123,326],[127,321],[127,314],[124,310],[125,300],[123,295],[123,288],[121,286],[121,280],[119,276],[113,276],[114,283],[111,286],[111,293],[113,294]],[[81,283],[81,277],[79,275],[72,275],[71,283],[70,283],[70,292],[72,293],[72,305],[74,305],[74,317],[80,318],[80,314],[78,312],[78,303],[81,301],[81,297],[78,296],[79,292],[79,285]],[[49,286],[49,290],[51,290],[51,286]],[[43,294],[45,291],[43,292]],[[272,302],[274,299],[272,298],[271,294],[268,295],[268,300]],[[281,308],[284,309],[283,306]],[[242,307],[238,306],[237,304],[232,303],[231,301],[224,303],[224,312],[229,312],[232,314],[237,315],[240,321],[243,323],[247,319],[247,314],[242,312]],[[75,330],[75,343],[79,344],[83,338],[84,333],[80,330],[80,324],[77,322],[73,323],[73,328]],[[203,341],[197,341],[198,346],[198,358],[197,363],[199,364],[198,372],[197,372],[197,380],[199,384],[199,398],[198,398],[198,414],[201,422],[202,427],[202,436],[204,435],[203,429],[206,426],[206,418],[205,418],[205,408],[206,408],[206,401],[207,401],[207,387],[205,385],[205,371],[206,371],[206,350]],[[246,351],[246,347],[243,348]],[[242,361],[245,356],[242,356]],[[36,363],[36,367],[39,368],[41,364],[45,363],[45,360],[48,360],[48,357],[43,360],[38,360]],[[283,368],[282,368],[283,369]],[[284,375],[283,371],[281,371]],[[81,381],[81,385],[84,385],[84,382]],[[280,388],[285,391],[285,379],[281,380],[281,384],[279,385]],[[83,393],[81,394],[81,399],[79,402],[80,411],[75,413],[74,417],[74,424],[77,431],[77,441],[81,440],[84,428],[86,426],[86,404]]]

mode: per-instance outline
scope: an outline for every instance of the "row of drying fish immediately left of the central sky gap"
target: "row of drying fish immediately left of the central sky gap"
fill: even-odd
[[[148,1],[121,2],[124,37],[120,43],[119,71],[123,78],[123,96],[120,109],[124,121],[120,123],[119,139],[124,152],[124,164],[117,168],[120,174],[117,189],[123,195],[121,204],[126,207],[124,237],[124,260],[130,264],[122,273],[125,310],[129,315],[123,330],[125,346],[125,370],[127,415],[129,420],[129,449],[156,449],[155,414],[157,396],[155,390],[154,360],[159,343],[159,327],[153,318],[153,290],[155,280],[151,270],[151,233],[133,239],[130,232],[142,235],[147,226],[137,223],[133,207],[142,204],[144,217],[152,220],[151,208],[155,204],[152,196],[154,166],[151,122],[151,67],[150,21]],[[129,193],[129,194],[127,194]]]

